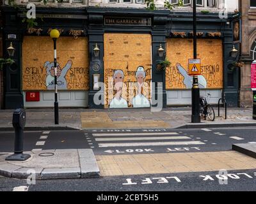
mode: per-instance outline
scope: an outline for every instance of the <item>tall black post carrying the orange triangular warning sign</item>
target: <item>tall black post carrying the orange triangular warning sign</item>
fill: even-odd
[[[196,0],[193,0],[193,50],[194,50],[194,59],[197,58],[196,50]],[[198,87],[198,77],[193,77],[193,87],[192,87],[192,123],[200,123],[200,89]]]

